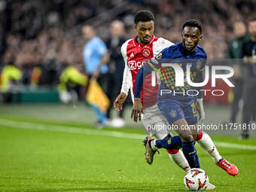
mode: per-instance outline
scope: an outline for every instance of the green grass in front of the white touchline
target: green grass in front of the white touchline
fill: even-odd
[[[0,133],[1,191],[186,191],[184,171],[165,150],[156,154],[151,166],[145,163],[143,138],[11,126],[2,126]],[[213,138],[218,142],[218,136]],[[233,177],[196,147],[201,168],[218,191],[254,191],[254,150],[218,148],[239,168]]]

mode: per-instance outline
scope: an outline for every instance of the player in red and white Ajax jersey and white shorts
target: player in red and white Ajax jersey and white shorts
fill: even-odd
[[[121,47],[125,69],[123,72],[121,93],[114,101],[114,108],[116,108],[117,111],[122,110],[123,102],[125,101],[129,90],[133,99],[136,74],[139,69],[148,61],[148,59],[157,56],[161,50],[172,45],[172,42],[164,38],[157,38],[153,35],[154,15],[150,11],[139,11],[134,17],[134,21],[138,35],[133,39],[127,40]],[[170,133],[169,130],[153,130],[148,126],[156,125],[155,127],[163,127],[163,125],[168,124],[166,118],[163,117],[163,114],[157,107],[157,93],[159,87],[156,86],[153,89],[147,90],[146,87],[151,87],[149,84],[151,84],[151,75],[145,79],[144,92],[142,93],[144,107],[142,123],[151,136],[155,136],[157,139],[170,138],[172,137],[172,133]],[[184,169],[184,171],[190,169],[184,154],[179,148],[167,151],[172,161],[181,167],[181,169]],[[148,163],[151,164],[151,162]]]

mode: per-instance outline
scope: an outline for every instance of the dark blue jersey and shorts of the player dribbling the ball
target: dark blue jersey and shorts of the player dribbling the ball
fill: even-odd
[[[152,71],[160,73],[161,84],[157,95],[157,105],[168,123],[172,125],[176,120],[184,118],[189,125],[197,123],[197,110],[194,105],[194,93],[187,82],[201,83],[203,81],[203,69],[206,65],[206,52],[197,46],[194,52],[185,53],[182,43],[172,45],[162,50],[153,59],[150,59],[136,75],[135,97],[140,97],[143,79]],[[187,67],[188,66],[188,67]],[[189,74],[187,68],[190,70]],[[179,76],[177,78],[176,76]],[[175,80],[182,82],[175,82]],[[182,84],[182,86],[177,86]],[[197,87],[197,98],[203,94]]]

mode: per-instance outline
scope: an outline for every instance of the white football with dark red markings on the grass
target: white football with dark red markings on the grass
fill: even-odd
[[[184,176],[184,185],[187,190],[205,190],[209,184],[209,177],[203,169],[190,169]]]

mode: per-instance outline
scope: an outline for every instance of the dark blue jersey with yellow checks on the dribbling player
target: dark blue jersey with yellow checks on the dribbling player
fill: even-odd
[[[197,45],[196,51],[186,54],[182,46],[182,42],[174,44],[164,50],[162,50],[154,59],[150,59],[140,70],[143,72],[138,72],[137,76],[145,76],[150,74],[152,71],[157,71],[160,73],[161,84],[158,93],[158,98],[168,98],[172,96],[178,96],[183,99],[191,98],[193,93],[187,92],[191,90],[190,84],[187,82],[187,66],[190,67],[190,80],[194,83],[201,83],[203,81],[203,70],[206,65],[206,52],[203,50],[203,47]],[[179,69],[182,69],[180,72],[175,72],[173,67],[167,66],[168,64],[174,64]],[[167,64],[167,65],[166,65]],[[143,75],[142,75],[143,73]],[[176,76],[183,80],[183,86],[176,86]],[[182,76],[181,76],[182,75]],[[141,81],[139,81],[141,78]],[[136,77],[140,84],[143,84],[142,77]],[[141,85],[137,84],[135,97],[140,97]],[[169,94],[163,94],[163,90]],[[197,87],[197,90],[202,90],[202,87]],[[177,94],[175,94],[177,93]],[[189,94],[187,94],[189,93]],[[203,94],[201,91],[198,91],[197,98],[202,98]]]

